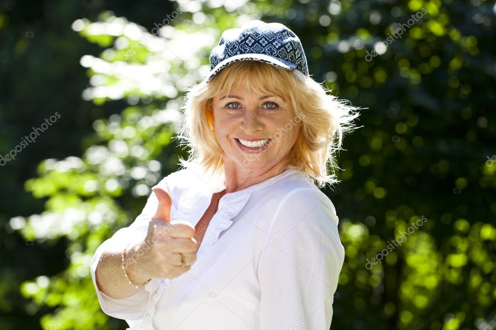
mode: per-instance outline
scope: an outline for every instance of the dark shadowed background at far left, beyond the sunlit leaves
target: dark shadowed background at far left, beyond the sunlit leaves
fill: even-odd
[[[46,199],[26,193],[24,182],[36,175],[43,159],[82,154],[87,146],[81,141],[94,132],[92,123],[121,113],[127,104],[116,100],[102,107],[81,98],[89,82],[79,60],[101,47],[78,38],[71,24],[81,17],[96,20],[109,5],[151,29],[173,3],[149,4],[155,10],[128,0],[0,1],[0,156],[12,152],[15,157],[6,163],[0,157],[0,329],[39,327],[40,316],[51,308],[35,308],[22,297],[19,285],[34,276],[58,274],[68,264],[64,237],[26,245],[22,236],[9,235],[13,215],[39,212]],[[45,119],[55,113],[60,118],[41,133]],[[40,136],[36,143],[28,142],[25,136],[35,129]]]

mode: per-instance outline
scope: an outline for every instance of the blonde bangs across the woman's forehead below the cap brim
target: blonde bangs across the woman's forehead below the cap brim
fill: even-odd
[[[248,89],[249,93],[281,95],[291,101],[288,84],[290,71],[259,61],[239,61],[222,69],[211,80],[213,89],[220,96],[232,90]]]

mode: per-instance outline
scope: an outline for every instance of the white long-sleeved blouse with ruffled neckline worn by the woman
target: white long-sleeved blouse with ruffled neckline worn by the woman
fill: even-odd
[[[157,185],[172,197],[171,220],[195,226],[224,176],[183,169]],[[152,279],[136,294],[112,298],[98,290],[95,269],[112,241],[143,240],[158,200],[96,250],[91,276],[105,314],[127,330],[328,330],[344,261],[330,199],[296,170],[223,195],[195,262],[174,279]],[[124,276],[124,275],[123,275]]]

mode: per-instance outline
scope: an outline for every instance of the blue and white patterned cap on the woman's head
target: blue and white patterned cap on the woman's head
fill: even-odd
[[[281,23],[252,20],[222,33],[210,53],[209,82],[224,67],[239,61],[260,61],[309,75],[307,57],[298,36]]]

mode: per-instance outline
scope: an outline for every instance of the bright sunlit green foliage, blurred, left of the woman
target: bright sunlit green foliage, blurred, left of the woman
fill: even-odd
[[[126,29],[136,27],[124,19],[103,16],[105,22],[87,22],[80,34],[89,41],[108,46],[102,42],[108,38],[100,38],[106,36],[98,29],[105,30],[109,25],[119,22],[123,34],[112,36],[114,40],[118,40],[127,38],[124,35]],[[94,36],[99,39],[93,38]],[[148,35],[143,33],[138,37],[146,36]],[[145,47],[139,49],[135,56],[155,56],[155,60],[160,60],[157,57],[163,56],[160,48],[154,49],[152,53]],[[99,81],[101,85],[85,93],[94,93],[90,97],[99,100],[95,103],[103,104],[108,99],[115,99],[115,93],[119,90],[120,97],[126,96],[130,105],[120,115],[94,122],[95,133],[87,138],[89,147],[81,158],[70,156],[62,160],[46,159],[41,162],[38,166],[39,177],[28,180],[25,188],[36,198],[46,198],[45,211],[40,215],[16,217],[13,220],[23,224],[18,227],[26,240],[43,242],[47,239],[57,240],[62,236],[69,240],[66,256],[70,264],[63,273],[52,278],[40,276],[21,286],[22,294],[32,299],[36,305],[58,307],[56,313],[42,318],[43,328],[51,329],[50,327],[56,325],[61,330],[107,329],[107,316],[101,312],[94,294],[89,262],[98,245],[118,229],[127,226],[143,207],[142,202],[130,205],[125,201],[148,196],[150,187],[162,178],[162,163],[156,159],[171,144],[172,130],[180,117],[180,97],[173,99],[167,96],[178,95],[169,81],[162,82],[161,86],[153,86],[156,94],[154,102],[150,102],[149,90],[145,86],[148,84],[146,79],[155,74],[163,75],[157,71],[159,68],[156,64],[121,63],[117,57],[111,57],[112,60],[106,64],[118,63],[120,71],[108,72],[106,79]],[[94,57],[91,60],[96,67],[105,61]],[[84,63],[84,59],[82,61]],[[169,75],[173,75],[174,71],[170,70]],[[98,72],[100,69],[91,67],[92,79],[98,76]],[[150,76],[136,77],[136,72],[149,72]],[[128,81],[112,76],[113,73],[126,75]],[[131,79],[140,80],[142,85],[133,85]],[[157,77],[153,79],[159,81]],[[143,104],[137,104],[140,98]],[[178,158],[177,152],[165,156],[167,161],[163,163],[168,166],[166,171],[171,171],[173,164],[177,163],[174,162]],[[124,202],[120,203],[118,200]],[[93,317],[94,315],[98,317]]]

